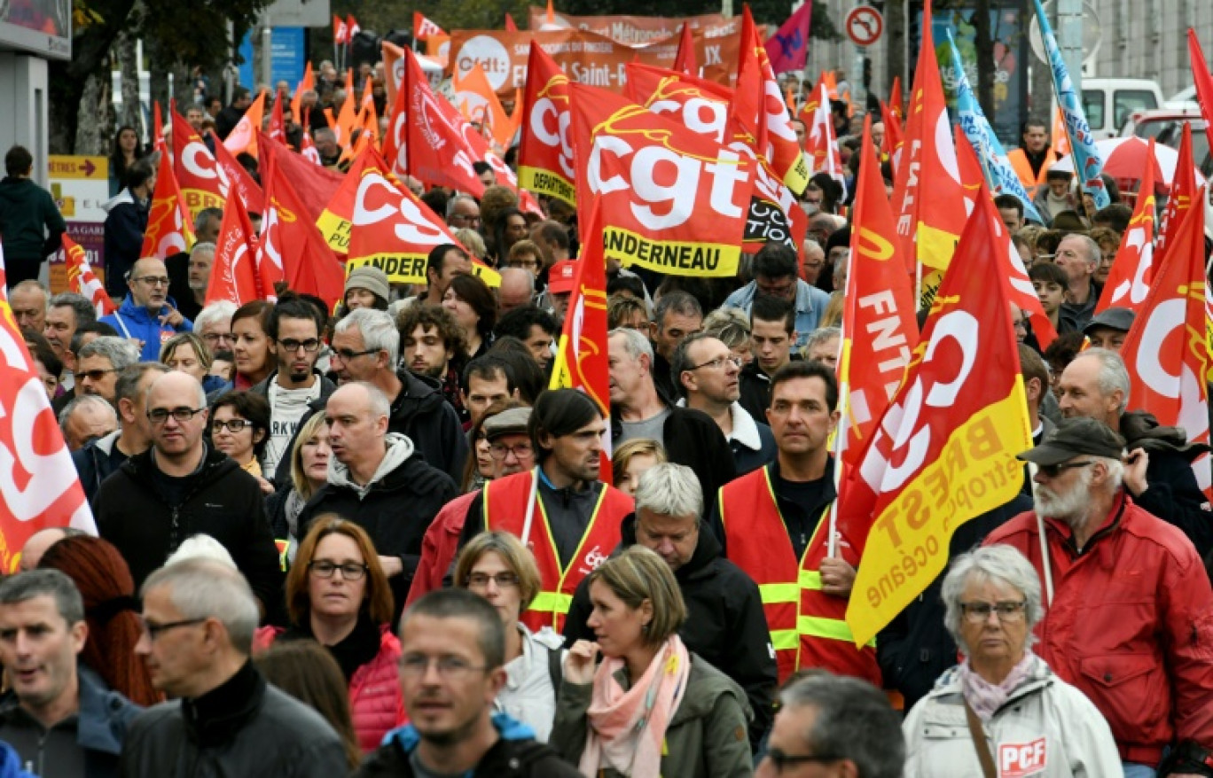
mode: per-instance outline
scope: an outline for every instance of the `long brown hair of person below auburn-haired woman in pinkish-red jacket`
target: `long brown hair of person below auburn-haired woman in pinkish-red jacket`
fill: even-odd
[[[254,657],[252,663],[267,681],[324,716],[346,746],[349,768],[358,767],[363,751],[349,716],[346,679],[332,654],[311,640],[284,640]]]

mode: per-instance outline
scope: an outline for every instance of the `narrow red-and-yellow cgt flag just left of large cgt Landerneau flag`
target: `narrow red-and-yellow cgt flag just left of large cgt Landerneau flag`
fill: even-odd
[[[569,76],[551,55],[531,46],[523,97],[523,133],[518,148],[518,183],[531,191],[576,207],[576,160],[569,126]]]

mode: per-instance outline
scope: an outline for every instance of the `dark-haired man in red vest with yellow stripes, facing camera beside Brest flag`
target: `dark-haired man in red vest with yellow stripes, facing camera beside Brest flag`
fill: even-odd
[[[841,536],[830,542],[837,405],[832,370],[811,360],[781,367],[767,408],[776,459],[721,488],[712,525],[725,556],[758,584],[781,683],[822,668],[879,686],[875,647],[856,648],[844,620],[859,554]]]

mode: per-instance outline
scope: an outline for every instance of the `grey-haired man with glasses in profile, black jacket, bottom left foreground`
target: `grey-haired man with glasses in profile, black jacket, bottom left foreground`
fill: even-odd
[[[135,653],[171,702],[131,723],[118,774],[346,774],[332,726],[269,685],[250,659],[257,602],[239,572],[186,559],[153,573],[141,594]]]

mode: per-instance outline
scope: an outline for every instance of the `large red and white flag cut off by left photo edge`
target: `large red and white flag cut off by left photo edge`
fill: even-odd
[[[97,534],[46,389],[7,304],[0,304],[0,571],[49,527]]]

